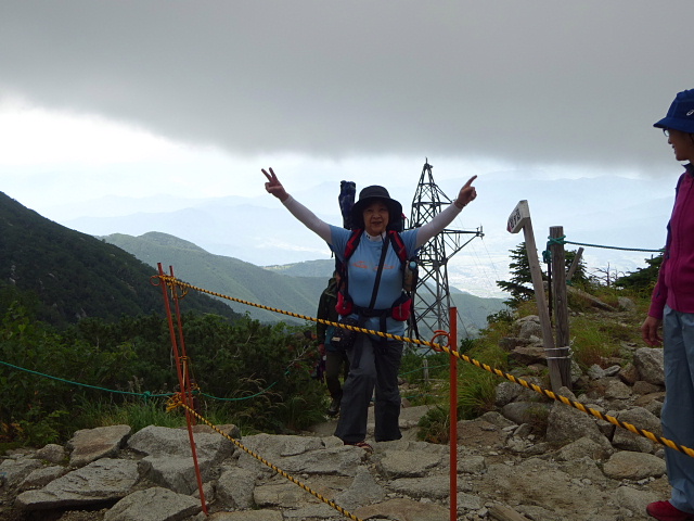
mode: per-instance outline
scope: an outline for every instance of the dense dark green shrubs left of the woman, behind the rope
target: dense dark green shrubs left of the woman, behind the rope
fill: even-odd
[[[204,416],[265,432],[324,418],[325,389],[310,377],[317,350],[292,329],[247,318],[232,326],[215,315],[182,321],[181,360]],[[0,442],[41,445],[114,423],[179,427],[181,409],[166,412],[166,396],[153,399],[179,389],[171,351],[156,316],[85,319],[57,332],[10,305],[0,325]]]

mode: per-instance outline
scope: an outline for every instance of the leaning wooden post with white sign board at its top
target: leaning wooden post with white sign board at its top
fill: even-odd
[[[542,284],[542,270],[540,269],[540,260],[538,259],[538,247],[535,244],[535,233],[532,232],[532,223],[530,220],[530,208],[527,201],[519,201],[517,206],[511,213],[506,230],[511,233],[517,233],[523,230],[525,237],[525,246],[528,253],[528,264],[530,265],[530,276],[532,278],[532,288],[535,290],[535,300],[538,304],[538,315],[540,317],[540,326],[542,327],[542,344],[544,345],[544,354],[547,356],[547,366],[550,370],[550,383],[552,391],[558,392],[562,386],[562,373],[560,366],[556,364],[556,350],[554,348],[554,335],[552,334],[552,323],[550,322],[550,313],[547,307],[547,297],[544,296],[544,285]]]

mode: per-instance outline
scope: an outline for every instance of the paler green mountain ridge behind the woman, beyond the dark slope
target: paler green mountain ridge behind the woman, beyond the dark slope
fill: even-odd
[[[156,266],[174,266],[177,277],[191,284],[243,301],[308,317],[316,316],[318,300],[327,284],[334,260],[319,259],[259,267],[233,257],[214,255],[195,244],[160,232],[140,237],[114,233],[103,237],[110,242]],[[504,307],[501,298],[483,298],[451,290],[451,297],[462,317],[461,332],[474,335],[487,326],[487,317]],[[290,316],[227,302],[237,313],[248,313],[262,321],[297,321]]]

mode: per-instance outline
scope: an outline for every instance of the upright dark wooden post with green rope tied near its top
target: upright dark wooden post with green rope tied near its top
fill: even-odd
[[[550,239],[564,237],[564,227],[550,227]],[[562,384],[571,389],[571,359],[570,339],[568,334],[568,298],[566,295],[566,264],[564,257],[564,244],[552,242],[552,305],[554,306],[554,320],[556,325],[556,350],[554,357],[562,374]]]

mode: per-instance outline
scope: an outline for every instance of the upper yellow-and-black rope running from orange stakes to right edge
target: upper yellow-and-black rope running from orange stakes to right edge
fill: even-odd
[[[195,290],[195,291],[198,291],[198,292],[202,292],[202,293],[207,293],[207,294],[217,296],[219,298],[224,298],[224,300],[228,300],[228,301],[239,302],[241,304],[246,304],[248,306],[254,306],[254,307],[258,307],[258,308],[261,308],[261,309],[271,310],[271,312],[274,312],[274,313],[280,313],[282,315],[288,315],[288,316],[292,316],[292,317],[295,317],[295,318],[300,318],[300,319],[304,319],[304,320],[324,323],[326,326],[335,326],[335,327],[338,327],[338,328],[348,329],[350,331],[362,332],[362,333],[367,333],[367,334],[374,334],[374,335],[378,335],[378,336],[382,336],[382,338],[397,340],[397,341],[400,341],[400,342],[408,342],[408,343],[411,343],[411,344],[424,345],[426,347],[430,347],[430,348],[434,348],[436,351],[442,351],[442,352],[446,352],[447,354],[449,354],[451,356],[454,356],[455,358],[459,358],[459,359],[461,359],[461,360],[463,360],[463,361],[465,361],[467,364],[472,364],[473,366],[475,366],[475,367],[477,367],[479,369],[483,369],[483,370],[485,370],[487,372],[496,374],[496,376],[498,376],[500,378],[504,378],[504,379],[506,379],[506,380],[509,380],[509,381],[511,381],[513,383],[517,383],[518,385],[523,385],[524,387],[529,389],[531,391],[535,391],[536,393],[541,394],[543,396],[547,396],[550,399],[553,399],[553,401],[556,401],[556,402],[561,402],[564,405],[567,405],[569,407],[574,407],[574,408],[580,410],[581,412],[586,412],[587,415],[591,415],[591,416],[597,418],[599,420],[607,421],[607,422],[612,423],[613,425],[619,427],[621,429],[626,429],[629,432],[632,432],[633,434],[638,434],[640,436],[643,436],[643,437],[645,437],[645,439],[647,439],[647,440],[650,440],[650,441],[652,441],[654,443],[664,445],[664,446],[666,446],[668,448],[671,448],[673,450],[678,450],[678,452],[680,452],[682,454],[685,454],[685,455],[687,455],[690,457],[694,457],[694,449],[692,449],[690,447],[686,447],[684,445],[680,445],[680,444],[678,444],[678,443],[676,443],[676,442],[673,442],[671,440],[668,440],[666,437],[658,436],[658,435],[654,434],[651,431],[639,429],[638,427],[635,427],[635,425],[633,425],[631,423],[628,423],[626,421],[618,420],[617,418],[615,418],[613,416],[603,415],[599,410],[595,410],[595,409],[593,409],[591,407],[586,407],[586,405],[581,404],[580,402],[573,401],[570,398],[567,398],[566,396],[557,395],[553,391],[550,391],[548,389],[543,389],[543,387],[541,387],[539,385],[536,385],[534,383],[528,382],[527,380],[514,377],[513,374],[510,374],[507,372],[503,372],[500,369],[496,369],[496,368],[493,368],[493,367],[491,367],[491,366],[489,366],[487,364],[483,364],[479,360],[476,360],[475,358],[472,358],[472,357],[470,357],[470,356],[467,356],[465,354],[461,354],[458,351],[452,351],[449,347],[447,347],[445,345],[441,345],[441,344],[435,344],[433,342],[427,342],[427,341],[423,341],[423,340],[409,339],[407,336],[400,336],[400,335],[397,335],[397,334],[390,334],[390,333],[384,333],[384,332],[381,332],[381,331],[373,331],[373,330],[369,330],[369,329],[364,329],[364,328],[358,328],[356,326],[348,326],[348,325],[340,323],[340,322],[332,322],[330,320],[324,320],[322,318],[308,317],[306,315],[300,315],[300,314],[297,314],[297,313],[292,313],[292,312],[286,312],[286,310],[283,310],[283,309],[278,309],[278,308],[273,308],[273,307],[269,307],[269,306],[264,306],[262,304],[256,304],[256,303],[253,303],[253,302],[243,301],[241,298],[235,298],[233,296],[223,295],[221,293],[216,293],[216,292],[213,292],[213,291],[209,291],[209,290],[205,290],[203,288],[197,288],[197,287],[195,287],[193,284],[189,284],[187,282],[182,282],[182,281],[176,279],[175,277],[170,277],[170,276],[153,276],[152,277],[152,279],[155,279],[155,278],[156,279],[160,279],[162,282],[167,283],[167,284],[172,285],[172,287],[180,285],[182,288],[188,288],[188,289]]]

